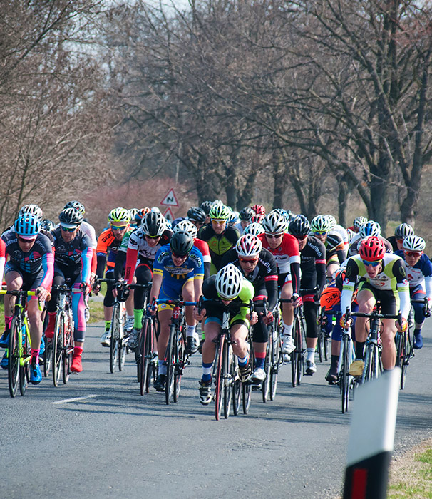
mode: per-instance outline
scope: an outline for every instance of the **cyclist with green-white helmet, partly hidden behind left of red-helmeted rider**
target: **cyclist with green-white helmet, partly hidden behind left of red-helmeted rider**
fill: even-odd
[[[311,230],[326,247],[327,277],[331,279],[346,259],[344,240],[337,232],[331,230],[331,222],[324,215],[317,215],[312,219]]]

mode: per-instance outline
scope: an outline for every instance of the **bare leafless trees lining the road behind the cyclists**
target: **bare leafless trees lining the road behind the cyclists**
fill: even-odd
[[[219,198],[432,243],[432,5],[0,0],[0,222]]]

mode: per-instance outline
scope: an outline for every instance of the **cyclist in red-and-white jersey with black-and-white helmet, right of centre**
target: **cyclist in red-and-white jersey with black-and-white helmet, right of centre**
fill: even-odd
[[[282,353],[287,356],[295,349],[292,339],[292,324],[294,321],[294,307],[301,304],[299,296],[300,284],[300,252],[297,239],[287,234],[287,222],[284,215],[276,210],[269,212],[262,222],[264,234],[259,235],[262,247],[268,249],[277,263],[278,287],[282,299],[292,299],[292,303],[282,304],[282,319],[284,332]]]

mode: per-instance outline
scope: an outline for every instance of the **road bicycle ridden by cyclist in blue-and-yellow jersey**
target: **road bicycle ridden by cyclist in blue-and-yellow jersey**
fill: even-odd
[[[156,300],[157,304],[173,305],[173,314],[170,321],[170,336],[168,339],[165,359],[167,374],[165,381],[165,402],[178,401],[180,396],[180,386],[183,370],[189,364],[189,357],[186,353],[186,319],[185,307],[196,305],[196,302],[185,302],[179,299]]]

